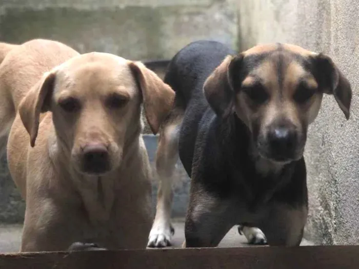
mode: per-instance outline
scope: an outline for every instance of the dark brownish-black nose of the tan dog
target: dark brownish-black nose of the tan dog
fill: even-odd
[[[88,144],[83,148],[83,169],[89,174],[102,174],[109,170],[109,153],[103,144]]]

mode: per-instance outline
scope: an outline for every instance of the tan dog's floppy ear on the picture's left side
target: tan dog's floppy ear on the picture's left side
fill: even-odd
[[[50,98],[55,81],[55,73],[46,72],[26,94],[18,106],[21,120],[30,135],[30,145],[35,146],[40,113],[50,109]]]

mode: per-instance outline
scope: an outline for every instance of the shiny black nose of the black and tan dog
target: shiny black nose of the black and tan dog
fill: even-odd
[[[292,157],[296,145],[296,132],[292,128],[277,127],[268,133],[270,151],[278,160]]]

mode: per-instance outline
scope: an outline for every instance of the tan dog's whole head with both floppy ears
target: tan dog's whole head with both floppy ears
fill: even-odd
[[[76,170],[102,175],[141,132],[141,104],[157,133],[174,91],[142,63],[107,53],[79,55],[46,73],[19,105],[34,147],[39,114],[51,111],[59,146]],[[136,142],[136,141],[135,141]]]

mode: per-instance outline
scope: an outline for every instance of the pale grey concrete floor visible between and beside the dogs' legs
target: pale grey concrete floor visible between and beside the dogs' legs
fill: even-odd
[[[173,236],[171,246],[172,248],[181,247],[185,239],[184,222],[177,219],[173,223],[175,234]],[[0,253],[13,253],[18,252],[21,244],[22,225],[20,224],[7,224],[0,225]],[[303,240],[301,245],[313,245],[312,242]],[[247,243],[243,235],[238,234],[237,227],[233,227],[223,238],[218,247],[246,247],[251,246]]]

